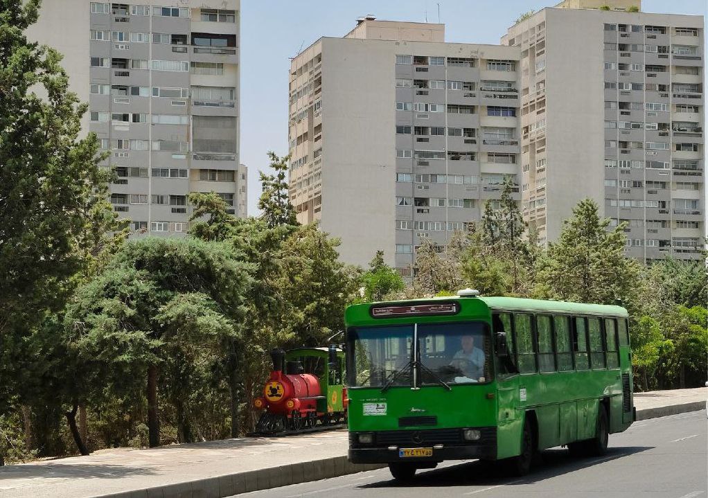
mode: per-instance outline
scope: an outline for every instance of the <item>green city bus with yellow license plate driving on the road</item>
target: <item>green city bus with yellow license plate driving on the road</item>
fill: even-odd
[[[445,460],[600,455],[636,413],[627,310],[458,296],[346,310],[349,459],[396,479]]]

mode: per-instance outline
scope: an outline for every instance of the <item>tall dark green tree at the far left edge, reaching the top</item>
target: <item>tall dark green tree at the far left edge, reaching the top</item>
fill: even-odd
[[[120,230],[96,136],[79,139],[86,105],[69,92],[59,53],[24,34],[38,7],[0,2],[0,413],[25,393],[26,337],[121,237],[105,234]]]

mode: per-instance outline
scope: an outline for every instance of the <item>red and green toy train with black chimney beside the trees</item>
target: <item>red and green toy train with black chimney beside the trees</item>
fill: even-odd
[[[310,432],[347,417],[344,352],[335,346],[273,349],[273,371],[253,406],[264,410],[256,434]]]

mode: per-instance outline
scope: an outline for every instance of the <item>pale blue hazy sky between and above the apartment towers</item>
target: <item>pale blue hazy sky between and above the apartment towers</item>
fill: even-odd
[[[322,36],[341,37],[356,18],[445,23],[445,41],[498,43],[520,13],[557,1],[537,0],[241,0],[241,163],[249,167],[249,214],[261,195],[266,152],[287,154],[290,57]],[[707,13],[706,0],[643,0],[642,11]],[[705,53],[705,52],[704,52]]]

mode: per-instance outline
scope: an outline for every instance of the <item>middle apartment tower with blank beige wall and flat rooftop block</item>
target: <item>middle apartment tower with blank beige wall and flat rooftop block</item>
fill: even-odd
[[[346,262],[384,250],[408,274],[423,238],[445,245],[518,185],[520,50],[443,41],[440,24],[368,18],[292,61],[290,199]]]

